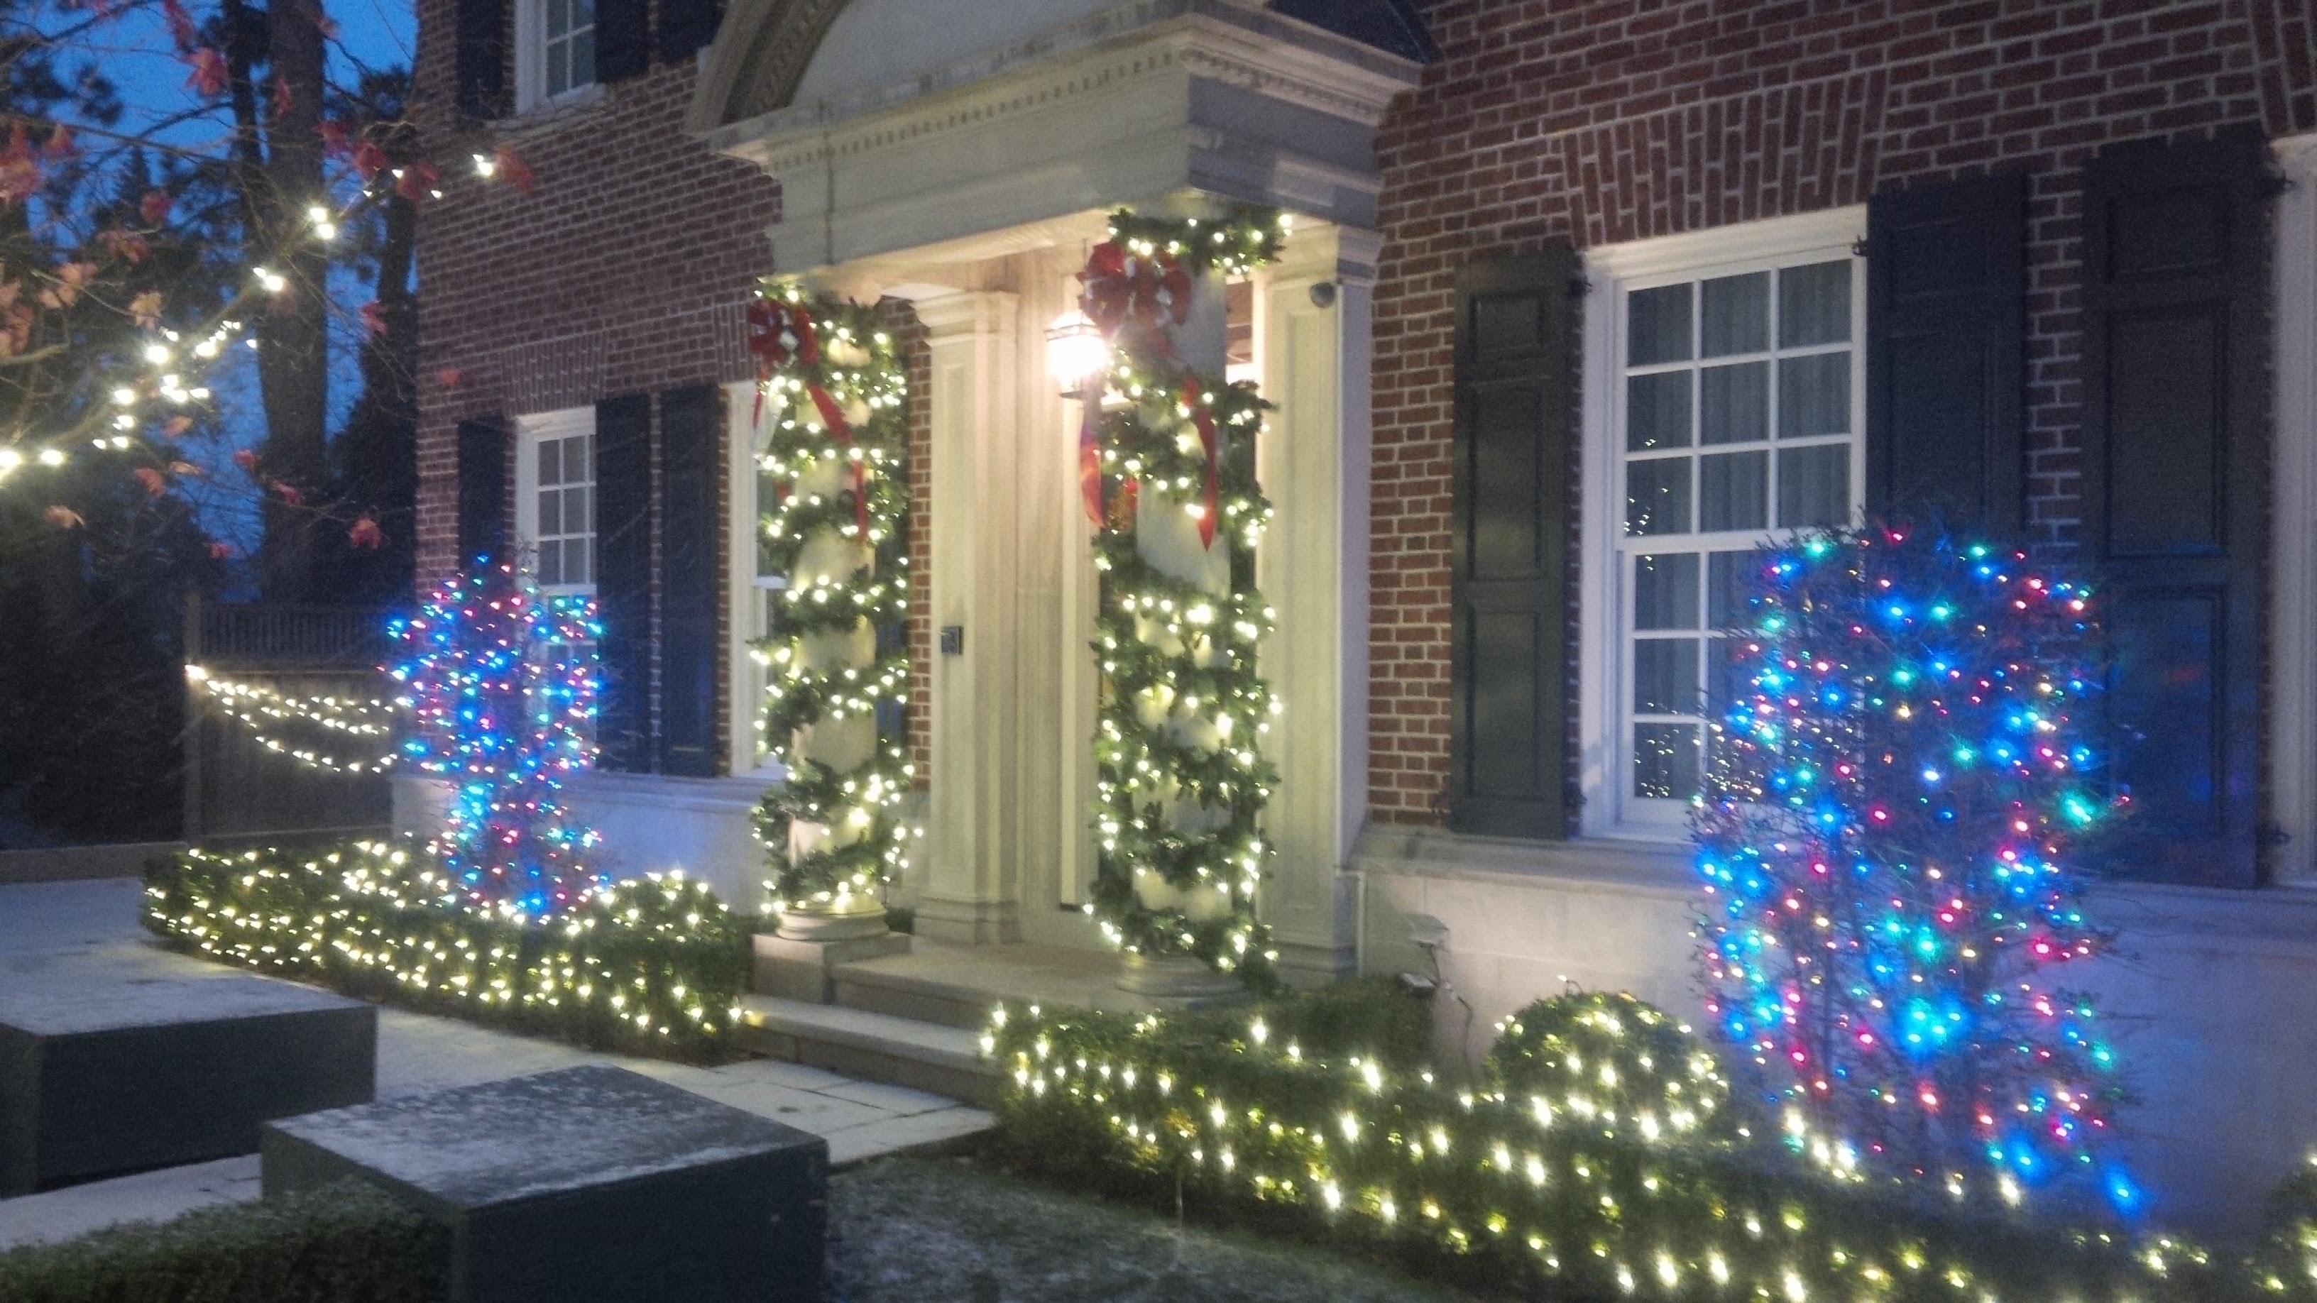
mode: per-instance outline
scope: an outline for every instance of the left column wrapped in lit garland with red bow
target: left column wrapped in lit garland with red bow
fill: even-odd
[[[908,654],[878,647],[908,600],[908,373],[876,308],[769,283],[748,311],[760,468],[774,480],[762,547],[788,575],[765,665],[765,733],[788,779],[758,807],[781,932],[885,930],[913,765],[899,737]]]

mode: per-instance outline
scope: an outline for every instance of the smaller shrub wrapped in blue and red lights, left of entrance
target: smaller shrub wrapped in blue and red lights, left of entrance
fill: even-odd
[[[595,603],[477,561],[387,628],[405,654],[389,670],[410,719],[403,756],[452,784],[429,851],[466,902],[535,920],[602,888],[595,830],[561,798],[595,763]]]

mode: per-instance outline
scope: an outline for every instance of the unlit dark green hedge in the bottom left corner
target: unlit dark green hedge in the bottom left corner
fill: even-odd
[[[9,1303],[424,1303],[449,1231],[357,1182],[0,1252]]]

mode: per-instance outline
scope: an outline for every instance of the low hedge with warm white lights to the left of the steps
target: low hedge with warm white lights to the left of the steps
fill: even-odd
[[[389,842],[155,856],[144,923],[364,999],[693,1060],[730,1053],[751,962],[746,925],[681,874],[524,920],[459,904],[424,851]]]

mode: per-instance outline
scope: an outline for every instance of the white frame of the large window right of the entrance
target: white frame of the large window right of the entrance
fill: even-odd
[[[1800,262],[1854,257],[1865,236],[1863,204],[1766,218],[1733,227],[1657,236],[1585,253],[1589,290],[1585,294],[1585,369],[1583,369],[1583,573],[1578,582],[1578,740],[1580,786],[1585,807],[1580,832],[1587,837],[1633,837],[1647,842],[1687,839],[1687,802],[1631,795],[1631,756],[1627,709],[1624,626],[1624,301],[1631,290],[1675,281],[1735,276]],[[1851,510],[1865,501],[1865,262],[1851,271]],[[1691,313],[1698,304],[1691,304]],[[1775,383],[1775,380],[1773,380]],[[1775,441],[1773,441],[1775,447]],[[1761,531],[1761,538],[1775,531]],[[1694,540],[1719,536],[1671,533],[1650,536],[1680,549]],[[1698,549],[1708,549],[1703,543]],[[1698,584],[1708,575],[1701,568]]]

